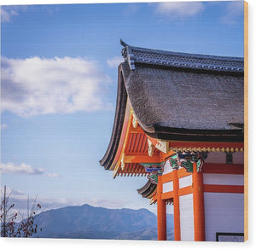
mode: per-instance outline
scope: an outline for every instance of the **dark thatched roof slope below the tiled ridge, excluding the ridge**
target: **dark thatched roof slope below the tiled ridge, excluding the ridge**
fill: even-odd
[[[122,71],[138,123],[151,137],[242,140],[242,76],[139,66],[131,71],[127,63]]]

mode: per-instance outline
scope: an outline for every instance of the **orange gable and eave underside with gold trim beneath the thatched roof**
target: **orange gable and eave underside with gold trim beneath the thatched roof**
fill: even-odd
[[[242,142],[176,142],[149,137],[138,124],[132,108],[124,132],[125,139],[121,145],[119,160],[113,168],[113,177],[148,176],[143,163],[161,163],[175,153],[243,151]]]

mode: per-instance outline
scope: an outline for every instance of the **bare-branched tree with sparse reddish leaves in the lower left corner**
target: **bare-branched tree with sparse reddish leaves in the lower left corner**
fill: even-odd
[[[24,219],[19,212],[13,210],[15,204],[9,204],[10,195],[11,193],[6,195],[6,186],[4,186],[0,207],[1,237],[27,238],[37,234],[38,225],[34,224],[34,216],[38,209],[41,209],[40,204],[36,202],[37,199],[34,199],[31,211],[29,211],[29,199],[27,200],[27,218]]]

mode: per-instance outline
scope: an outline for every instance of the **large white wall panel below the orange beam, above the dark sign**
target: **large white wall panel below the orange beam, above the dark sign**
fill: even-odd
[[[217,232],[243,233],[243,194],[204,193],[206,241]]]

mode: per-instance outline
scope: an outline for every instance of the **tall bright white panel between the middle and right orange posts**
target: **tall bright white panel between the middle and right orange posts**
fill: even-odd
[[[182,241],[194,241],[193,195],[179,197],[180,233]]]

